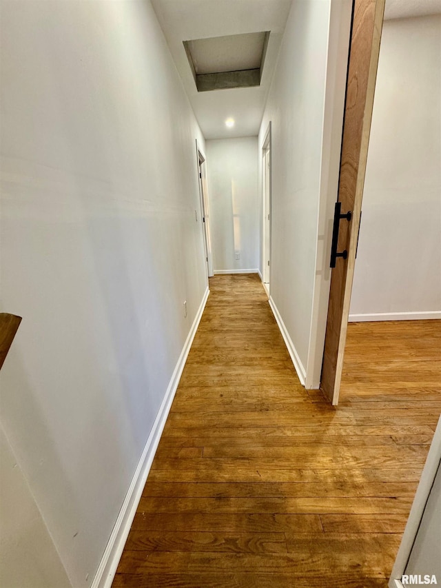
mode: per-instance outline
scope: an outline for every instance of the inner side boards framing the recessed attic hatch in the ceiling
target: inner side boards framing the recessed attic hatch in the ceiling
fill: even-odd
[[[262,80],[263,65],[265,63],[265,57],[267,54],[269,33],[271,31],[267,30],[258,32],[265,33],[262,55],[260,57],[260,66],[254,69],[234,70],[231,72],[213,72],[207,74],[196,73],[189,43],[192,43],[193,41],[198,41],[199,39],[190,39],[189,41],[183,41],[185,53],[187,54],[190,70],[192,70],[194,83],[196,84],[198,92],[225,90],[228,88],[252,88],[253,86],[260,85],[260,81]],[[237,37],[239,36],[240,35],[237,35]],[[216,39],[216,37],[212,38]]]

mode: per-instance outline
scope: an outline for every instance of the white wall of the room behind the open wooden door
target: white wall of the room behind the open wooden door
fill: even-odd
[[[385,21],[352,320],[441,316],[440,162],[441,16]]]

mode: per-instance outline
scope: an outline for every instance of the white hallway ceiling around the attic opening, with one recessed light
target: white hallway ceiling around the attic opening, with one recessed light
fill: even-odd
[[[291,0],[152,0],[206,139],[258,134]],[[260,85],[198,92],[183,41],[271,31]],[[225,120],[233,118],[233,128]]]

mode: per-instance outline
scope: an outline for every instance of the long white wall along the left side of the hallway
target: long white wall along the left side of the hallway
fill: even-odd
[[[3,1],[1,54],[1,418],[80,588],[207,287],[203,137],[148,1]]]

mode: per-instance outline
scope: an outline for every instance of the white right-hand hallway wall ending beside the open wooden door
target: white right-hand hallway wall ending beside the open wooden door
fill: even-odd
[[[349,1],[293,2],[258,139],[271,121],[270,302],[307,387],[325,341],[350,17]]]

